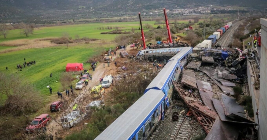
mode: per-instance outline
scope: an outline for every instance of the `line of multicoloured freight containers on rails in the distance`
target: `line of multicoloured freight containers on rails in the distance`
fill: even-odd
[[[215,45],[215,43],[222,37],[225,32],[232,27],[232,22],[227,23],[222,28],[218,29],[216,32],[214,32],[212,35],[208,37],[207,40],[204,40],[203,42],[196,45],[196,47],[193,48],[193,53],[199,53],[201,47],[203,48],[211,48]]]

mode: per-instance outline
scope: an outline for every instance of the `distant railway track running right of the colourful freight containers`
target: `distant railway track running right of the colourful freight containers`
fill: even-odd
[[[233,26],[227,32],[225,32],[222,38],[216,43],[216,45],[221,45],[223,47],[222,49],[227,49],[227,46],[231,42],[231,35],[241,23],[242,21],[238,21],[237,23],[233,24]]]

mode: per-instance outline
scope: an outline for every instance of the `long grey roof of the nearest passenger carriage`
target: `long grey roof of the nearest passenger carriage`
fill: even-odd
[[[95,140],[129,139],[134,131],[142,127],[142,123],[145,123],[144,120],[150,117],[154,109],[157,109],[156,106],[164,98],[165,95],[161,90],[149,90],[99,134]]]

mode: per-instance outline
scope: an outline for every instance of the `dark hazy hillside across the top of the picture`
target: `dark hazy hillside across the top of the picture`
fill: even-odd
[[[78,14],[114,14],[166,7],[242,6],[267,8],[266,0],[0,0],[1,19],[58,17]],[[47,14],[47,15],[46,15]],[[62,17],[63,18],[63,17]]]

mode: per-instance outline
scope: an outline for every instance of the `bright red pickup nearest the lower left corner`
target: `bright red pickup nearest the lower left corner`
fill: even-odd
[[[30,125],[26,128],[28,132],[41,131],[43,127],[49,125],[50,123],[50,115],[42,114],[39,117],[34,118]]]

